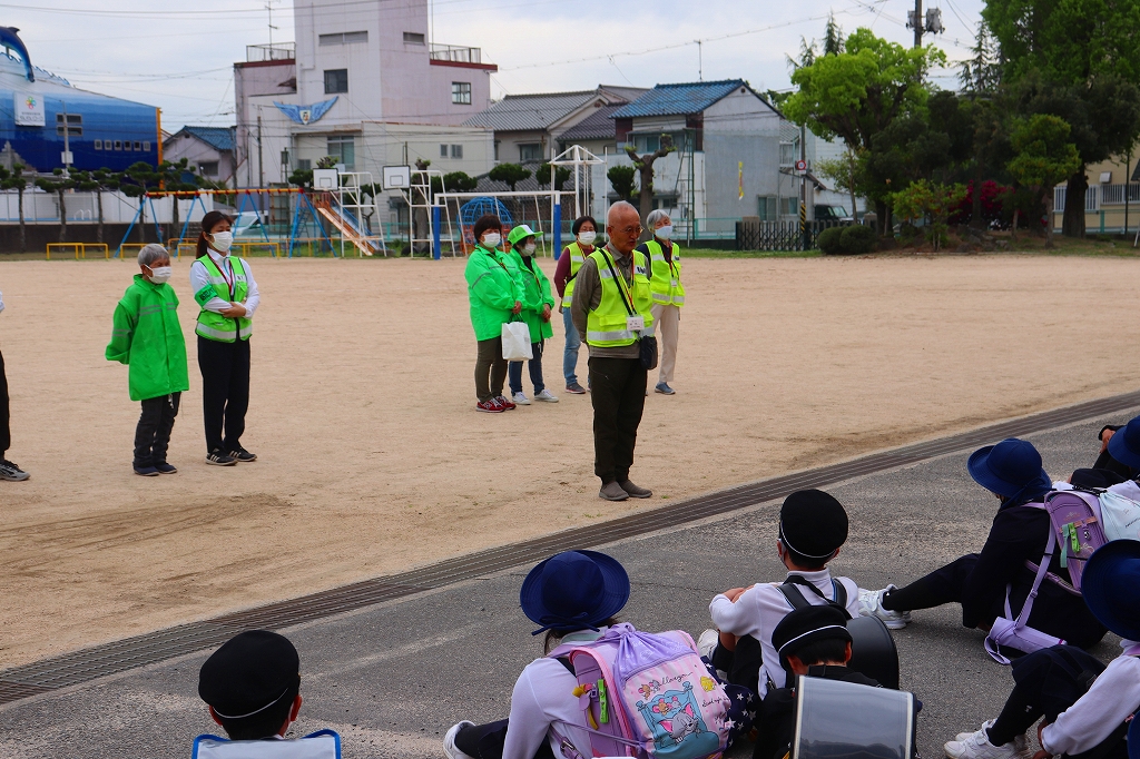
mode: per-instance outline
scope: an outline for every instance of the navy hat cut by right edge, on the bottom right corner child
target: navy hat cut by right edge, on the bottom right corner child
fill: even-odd
[[[1098,548],[1084,565],[1081,593],[1101,625],[1140,642],[1140,541],[1113,540]]]

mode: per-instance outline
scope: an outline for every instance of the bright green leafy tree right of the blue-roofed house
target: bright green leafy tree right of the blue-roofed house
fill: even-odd
[[[930,87],[923,77],[931,66],[944,64],[946,56],[933,46],[904,48],[866,28],[855,30],[844,48],[792,72],[791,81],[798,89],[782,109],[816,136],[838,137],[870,158],[878,133],[903,114],[925,111]],[[879,212],[880,234],[887,229],[888,196],[888,191],[871,196]]]

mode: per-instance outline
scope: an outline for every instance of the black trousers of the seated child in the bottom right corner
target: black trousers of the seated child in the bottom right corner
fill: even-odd
[[[1102,671],[1105,666],[1098,659],[1076,646],[1053,646],[1021,656],[1013,662],[1017,685],[987,731],[990,742],[1004,745],[1042,717],[1056,720],[1057,715],[1088,692],[1091,679]],[[1121,726],[1100,745],[1077,756],[1123,759],[1127,756],[1123,738],[1124,726]]]

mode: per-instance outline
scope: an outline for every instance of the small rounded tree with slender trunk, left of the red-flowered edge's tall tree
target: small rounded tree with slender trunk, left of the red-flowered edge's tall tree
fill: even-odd
[[[1013,158],[1009,171],[1021,185],[1036,190],[1045,204],[1045,247],[1053,246],[1053,187],[1081,165],[1062,119],[1037,114],[1013,128]]]

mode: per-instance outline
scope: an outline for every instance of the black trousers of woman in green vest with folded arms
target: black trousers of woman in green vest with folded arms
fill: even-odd
[[[198,369],[206,452],[237,450],[250,408],[250,341],[221,343],[198,335]]]

